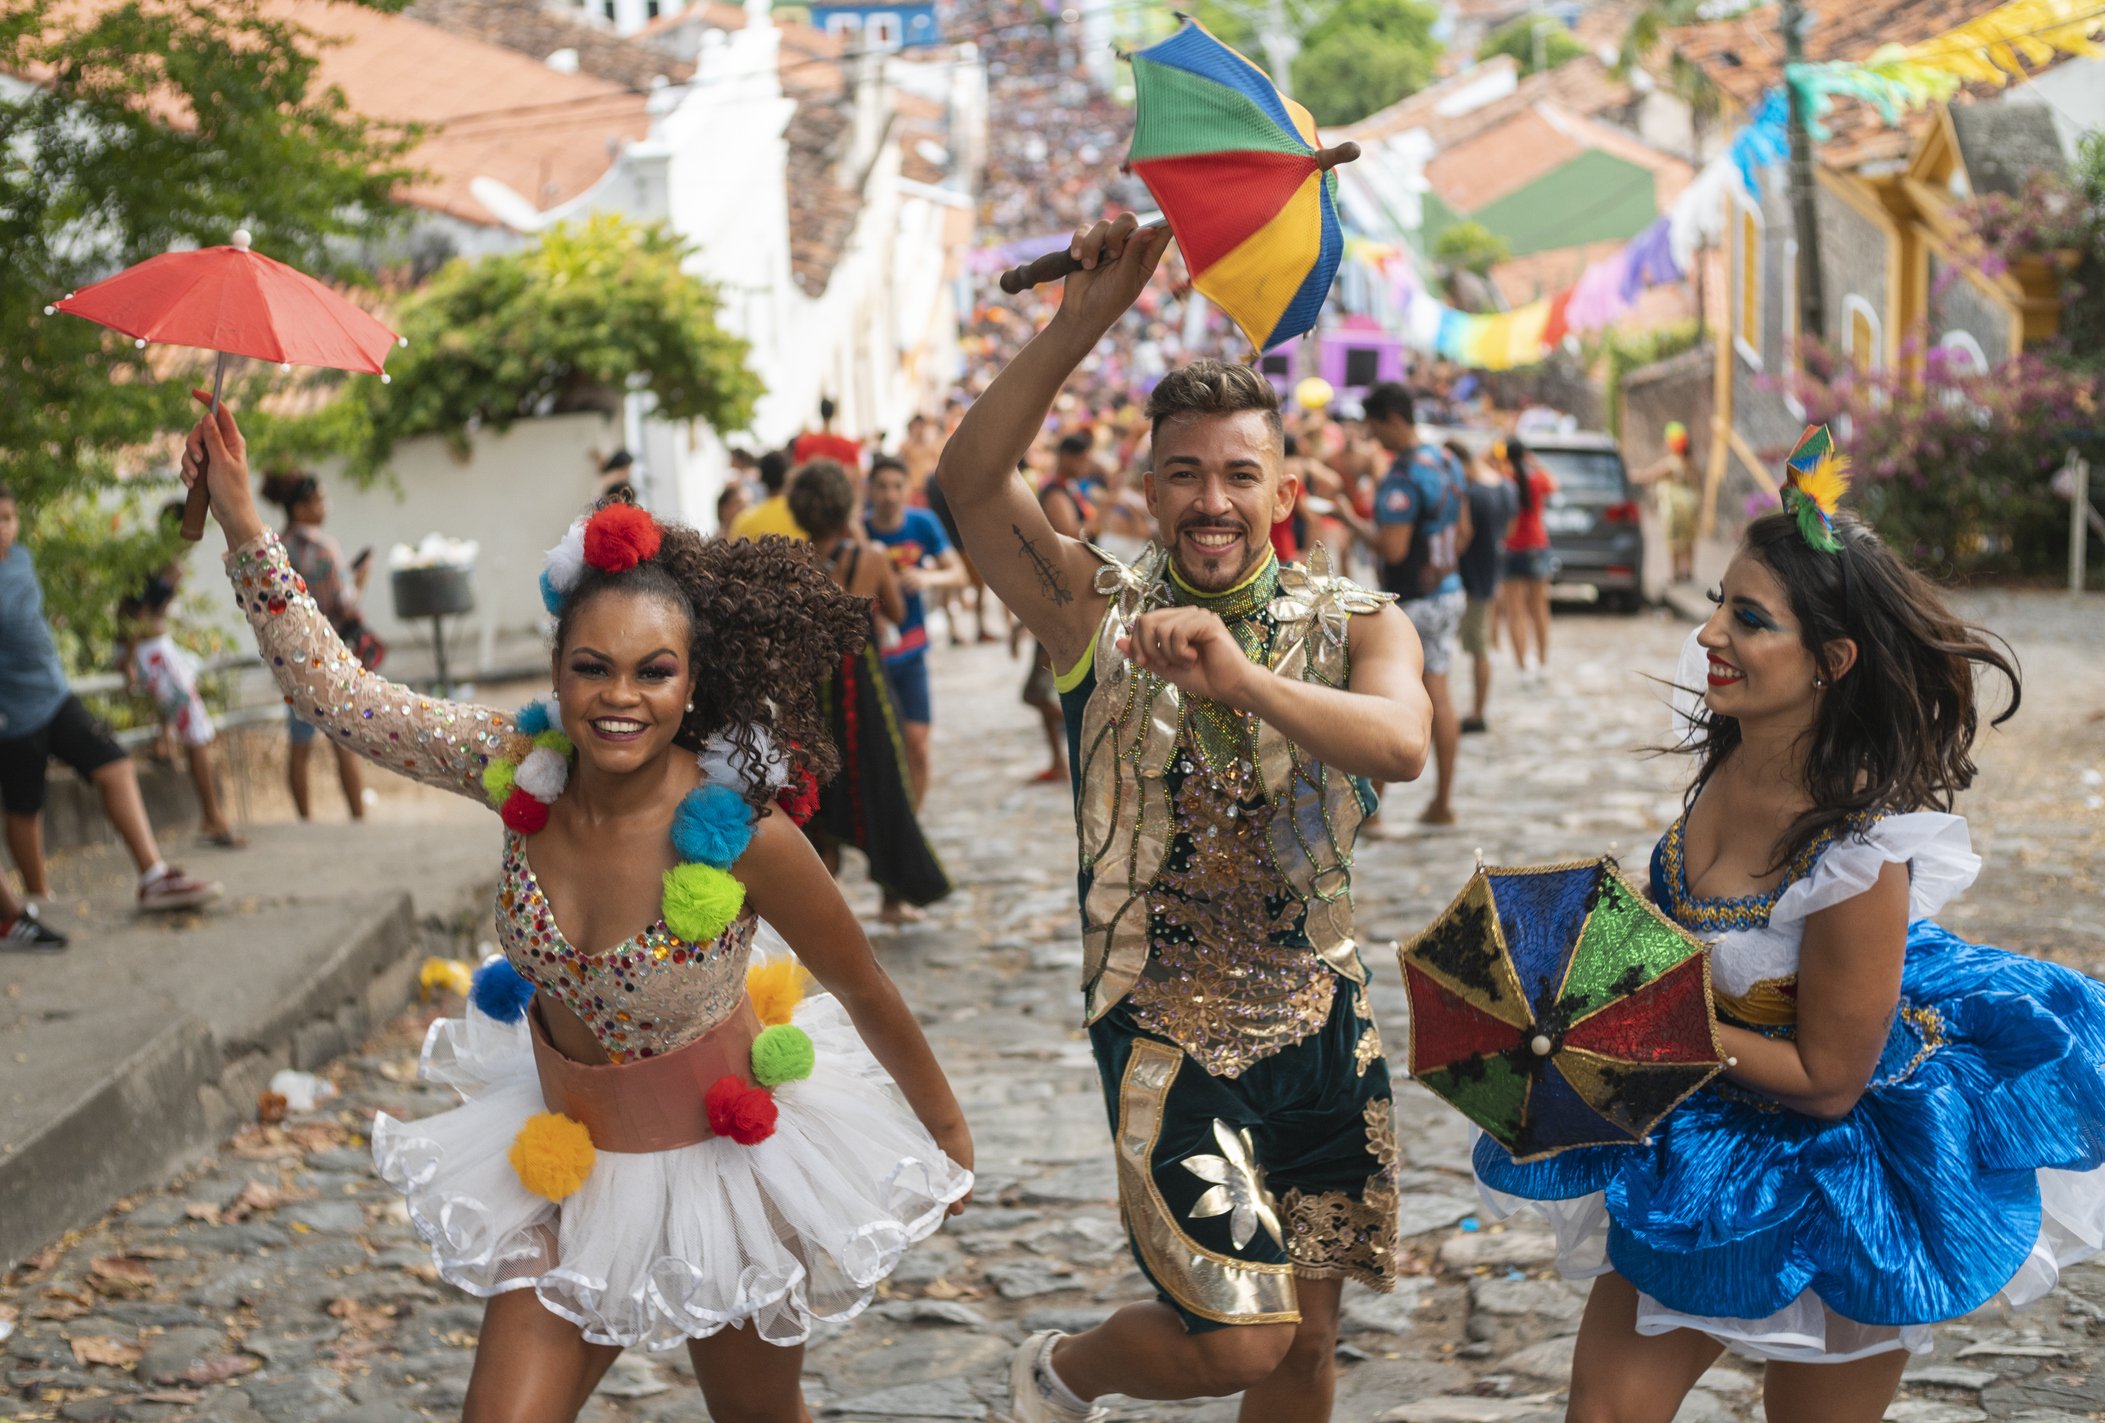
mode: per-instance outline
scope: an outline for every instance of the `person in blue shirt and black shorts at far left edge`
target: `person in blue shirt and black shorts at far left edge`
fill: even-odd
[[[0,806],[6,844],[29,903],[51,899],[44,865],[44,787],[51,758],[95,785],[103,815],[139,863],[141,909],[189,909],[219,897],[160,857],[139,777],[95,714],[74,695],[44,621],[44,585],[21,543],[21,507],[0,486]]]

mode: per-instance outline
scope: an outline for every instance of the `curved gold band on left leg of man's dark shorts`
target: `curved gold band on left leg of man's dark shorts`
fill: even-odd
[[[1139,1038],[1118,1086],[1118,1204],[1147,1274],[1179,1305],[1217,1324],[1299,1324],[1295,1267],[1238,1261],[1177,1227],[1151,1170],[1162,1109],[1183,1067],[1177,1048]],[[1394,1139],[1391,1139],[1394,1141]],[[1394,1215],[1394,1212],[1391,1212]]]

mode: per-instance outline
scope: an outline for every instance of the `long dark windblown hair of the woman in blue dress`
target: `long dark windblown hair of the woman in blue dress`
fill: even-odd
[[[1770,869],[1823,834],[1861,827],[1878,813],[1949,810],[1974,779],[1974,674],[1993,669],[2010,684],[2010,701],[1991,726],[2017,716],[2023,701],[2008,642],[1945,608],[1937,585],[1894,558],[1861,518],[1836,514],[1833,522],[1840,554],[1808,545],[1789,514],[1758,518],[1741,541],[1783,583],[1800,640],[1829,680],[1804,743],[1812,808],[1783,834]],[[1827,644],[1838,638],[1857,644],[1857,665],[1842,678],[1827,667]],[[1695,716],[1678,747],[1697,758],[1684,808],[1695,806],[1737,745],[1735,718],[1709,709]]]

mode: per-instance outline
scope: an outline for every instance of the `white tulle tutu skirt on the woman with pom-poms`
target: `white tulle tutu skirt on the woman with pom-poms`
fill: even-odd
[[[825,996],[796,1008],[817,1067],[775,1088],[775,1135],[600,1151],[560,1204],[509,1149],[545,1111],[526,1021],[440,1019],[423,1076],[461,1105],[373,1122],[373,1160],[408,1202],[438,1274],[469,1295],[535,1290],[592,1343],[669,1349],[726,1326],[796,1345],[863,1311],[916,1240],[973,1189]]]

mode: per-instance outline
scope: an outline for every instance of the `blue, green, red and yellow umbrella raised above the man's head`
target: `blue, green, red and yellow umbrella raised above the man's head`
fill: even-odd
[[[1132,55],[1132,84],[1128,164],[1191,284],[1261,352],[1309,330],[1345,253],[1330,168],[1360,149],[1322,149],[1309,112],[1198,21]]]

